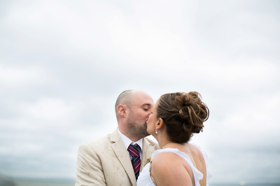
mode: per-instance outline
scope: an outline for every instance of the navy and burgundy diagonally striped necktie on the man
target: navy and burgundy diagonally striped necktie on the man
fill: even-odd
[[[134,170],[135,178],[137,180],[141,167],[140,148],[137,144],[135,145],[130,144],[127,150],[132,156],[131,163]]]

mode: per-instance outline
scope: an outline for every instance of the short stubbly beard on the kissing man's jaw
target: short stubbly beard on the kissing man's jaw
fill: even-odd
[[[139,139],[150,135],[147,133],[147,122],[139,120],[132,112],[127,118],[127,133],[130,136],[137,136]]]

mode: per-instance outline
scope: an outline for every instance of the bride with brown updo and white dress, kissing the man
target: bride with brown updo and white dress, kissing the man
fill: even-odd
[[[202,132],[209,110],[197,92],[162,95],[147,121],[147,132],[161,149],[141,171],[137,186],[208,186],[207,154],[188,143],[193,133]]]

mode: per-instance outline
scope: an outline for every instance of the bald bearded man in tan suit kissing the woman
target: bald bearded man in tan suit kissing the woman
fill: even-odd
[[[115,104],[118,128],[78,150],[76,186],[136,186],[146,165],[147,149],[156,142],[145,138],[154,102],[140,90],[122,92]]]

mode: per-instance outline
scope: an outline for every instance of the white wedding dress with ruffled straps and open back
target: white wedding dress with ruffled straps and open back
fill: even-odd
[[[193,143],[191,143],[193,144]],[[208,180],[211,178],[212,173],[209,172],[208,170],[208,157],[206,152],[202,151],[201,148],[199,146],[195,145],[197,148],[199,148],[199,150],[202,152],[204,160],[205,160],[205,164],[206,164],[206,177],[207,177],[207,181],[206,181],[206,186],[208,186]],[[165,148],[165,149],[159,149],[156,150],[151,158],[151,161],[153,160],[153,158],[155,156],[157,156],[157,154],[161,153],[161,152],[172,152],[174,154],[177,154],[178,156],[182,157],[184,160],[186,160],[186,162],[189,164],[189,166],[191,167],[191,170],[193,171],[193,177],[194,177],[194,181],[195,181],[195,186],[200,186],[199,185],[199,180],[201,180],[203,178],[203,174],[197,170],[197,168],[195,168],[193,166],[193,162],[191,161],[191,159],[189,158],[189,155],[179,151],[178,149],[175,148]],[[137,186],[155,186],[155,184],[153,183],[151,176],[150,176],[150,163],[147,163],[147,165],[145,165],[145,167],[143,168],[143,170],[140,172],[139,177],[137,179]]]

